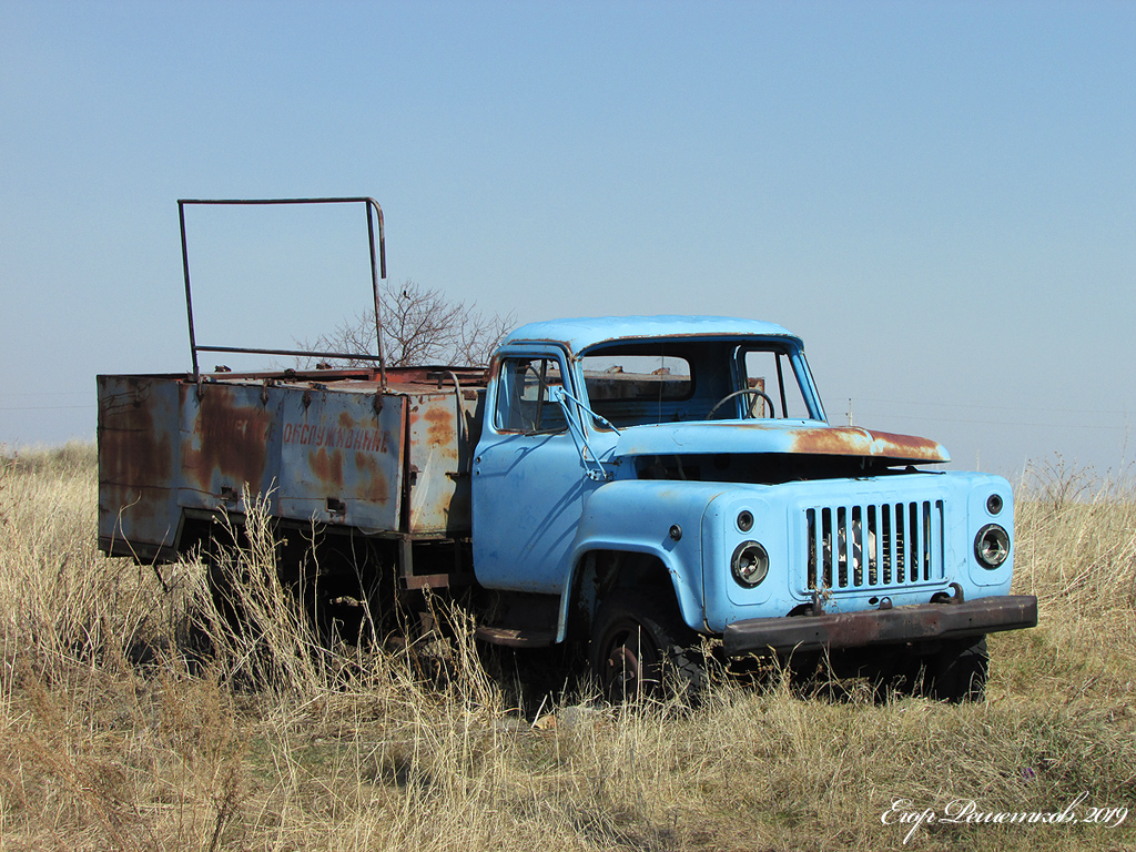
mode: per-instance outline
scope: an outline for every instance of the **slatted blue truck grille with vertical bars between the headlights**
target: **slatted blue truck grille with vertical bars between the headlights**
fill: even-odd
[[[943,571],[943,501],[805,509],[810,590],[932,583]]]

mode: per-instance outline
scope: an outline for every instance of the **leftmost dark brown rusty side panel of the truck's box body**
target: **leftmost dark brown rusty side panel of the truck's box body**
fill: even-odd
[[[99,376],[99,540],[152,558],[176,543],[181,512],[177,384]]]

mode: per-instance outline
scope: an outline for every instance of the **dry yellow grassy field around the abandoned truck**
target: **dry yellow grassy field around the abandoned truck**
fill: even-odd
[[[0,461],[0,850],[1136,849],[1136,493],[1060,463],[1017,506],[1041,624],[991,637],[969,705],[720,676],[526,716],[460,623],[443,678],[314,650],[268,585],[261,641],[226,633],[200,565],[98,553],[95,490],[90,446]]]

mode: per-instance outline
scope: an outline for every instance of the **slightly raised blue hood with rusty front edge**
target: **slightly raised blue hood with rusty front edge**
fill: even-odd
[[[620,457],[717,452],[855,456],[911,463],[951,460],[946,448],[926,437],[870,432],[858,426],[824,426],[815,420],[633,426],[620,432],[616,443],[616,456]]]

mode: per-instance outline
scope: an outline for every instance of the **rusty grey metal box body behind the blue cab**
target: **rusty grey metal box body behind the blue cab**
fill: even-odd
[[[415,381],[376,406],[377,383],[344,378],[250,375],[198,385],[179,376],[100,376],[103,549],[172,558],[185,510],[244,512],[245,488],[265,496],[270,515],[300,523],[468,534],[469,453],[484,395],[476,384],[461,392],[459,427],[451,389],[400,376]],[[420,486],[407,487],[408,463]]]

